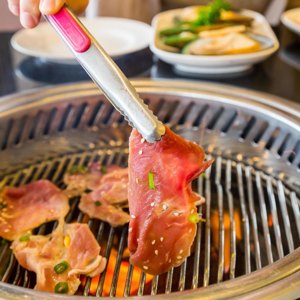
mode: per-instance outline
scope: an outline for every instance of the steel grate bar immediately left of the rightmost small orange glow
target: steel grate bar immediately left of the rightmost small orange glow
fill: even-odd
[[[261,220],[263,225],[263,231],[264,231],[264,243],[267,249],[267,257],[268,257],[268,264],[273,263],[273,255],[272,255],[272,248],[271,248],[271,239],[270,239],[270,233],[269,233],[269,227],[268,227],[268,216],[267,216],[267,208],[266,203],[264,201],[264,192],[261,186],[261,176],[260,172],[255,172],[255,178],[256,178],[256,186],[258,190],[258,200],[259,200],[259,206],[261,210]]]

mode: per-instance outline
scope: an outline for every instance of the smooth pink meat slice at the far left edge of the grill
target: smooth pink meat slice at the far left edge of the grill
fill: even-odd
[[[68,198],[48,180],[6,186],[0,195],[0,236],[12,241],[22,232],[63,219],[68,211]]]

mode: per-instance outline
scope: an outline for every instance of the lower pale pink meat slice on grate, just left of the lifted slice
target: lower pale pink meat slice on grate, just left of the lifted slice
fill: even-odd
[[[127,186],[127,185],[126,185]],[[106,185],[104,187],[107,187]],[[92,191],[88,194],[83,194],[80,199],[78,208],[88,214],[90,218],[100,219],[108,222],[111,226],[122,226],[129,222],[129,214],[120,207],[108,204],[103,199],[103,187]],[[126,187],[127,191],[127,187]],[[127,197],[126,197],[127,198]]]

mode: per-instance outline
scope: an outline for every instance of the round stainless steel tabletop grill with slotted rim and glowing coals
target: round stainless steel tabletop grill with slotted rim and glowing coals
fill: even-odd
[[[137,275],[127,227],[87,219],[71,203],[67,222],[88,222],[107,269],[75,296],[32,290],[35,275],[0,246],[0,298],[86,296],[164,299],[295,299],[300,294],[300,109],[275,96],[191,81],[133,80],[158,118],[199,143],[212,168],[193,182],[198,208],[192,254],[167,274]],[[73,164],[127,165],[131,128],[93,83],[0,99],[0,189],[47,178],[60,186]],[[207,213],[209,212],[209,213]],[[36,234],[51,232],[55,223]],[[127,253],[127,254],[126,254]],[[171,294],[170,294],[171,293]]]

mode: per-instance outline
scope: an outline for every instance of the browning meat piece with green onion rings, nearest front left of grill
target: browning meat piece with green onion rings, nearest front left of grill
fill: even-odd
[[[24,238],[21,237],[21,239]],[[87,224],[72,223],[58,227],[48,235],[29,235],[29,241],[16,239],[11,248],[19,264],[36,272],[39,291],[54,293],[59,282],[68,284],[66,294],[74,294],[80,284],[79,275],[98,276],[106,259],[99,255],[100,246]],[[58,274],[54,267],[66,261],[65,271]]]

